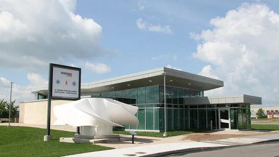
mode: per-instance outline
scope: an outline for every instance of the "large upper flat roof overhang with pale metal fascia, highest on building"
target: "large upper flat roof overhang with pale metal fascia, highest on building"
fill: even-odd
[[[138,73],[132,73],[106,80],[84,83],[81,85],[82,94],[99,94],[137,87],[163,85],[166,72],[166,85],[199,91],[207,91],[224,86],[224,82],[214,78],[205,77],[181,70],[170,68],[157,68]],[[32,93],[48,94],[48,88],[32,89]]]

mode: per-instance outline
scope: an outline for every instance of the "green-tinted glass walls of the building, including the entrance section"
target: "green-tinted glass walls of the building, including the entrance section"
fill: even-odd
[[[131,130],[164,131],[164,86],[154,85],[101,94],[90,97],[113,98],[138,107],[138,126]],[[167,130],[187,129],[251,129],[249,104],[185,105],[190,97],[202,97],[203,91],[166,86]]]

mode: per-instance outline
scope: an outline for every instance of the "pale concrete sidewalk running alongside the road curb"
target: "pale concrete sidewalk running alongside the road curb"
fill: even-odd
[[[163,143],[154,145],[144,145],[120,149],[111,149],[104,151],[95,151],[82,154],[75,154],[69,156],[160,156],[170,153],[185,152],[191,150],[202,150],[217,147],[245,145],[265,141],[279,141],[279,134],[258,135],[247,137],[235,137],[215,141],[203,142],[181,142],[181,143]]]

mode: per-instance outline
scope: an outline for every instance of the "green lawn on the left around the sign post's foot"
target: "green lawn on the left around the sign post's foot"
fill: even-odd
[[[63,143],[60,137],[73,137],[74,132],[51,130],[52,141],[44,142],[46,129],[0,126],[0,156],[63,156],[113,149],[90,143]]]

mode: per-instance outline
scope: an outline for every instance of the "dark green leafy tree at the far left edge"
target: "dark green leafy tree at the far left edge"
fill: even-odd
[[[11,102],[11,120],[13,121],[18,112],[19,106],[15,106],[15,100]],[[0,118],[9,118],[10,103],[7,100],[0,100]]]

